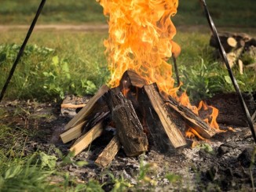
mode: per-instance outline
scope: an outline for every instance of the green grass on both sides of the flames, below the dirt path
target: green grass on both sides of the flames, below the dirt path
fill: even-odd
[[[25,33],[0,34],[2,87]],[[59,100],[66,93],[93,94],[109,78],[104,38],[107,38],[105,33],[35,32],[16,68],[5,99]],[[177,59],[184,82],[182,89],[187,89],[193,100],[213,96],[216,92],[234,91],[228,71],[212,56],[214,49],[208,45],[209,38],[207,33],[181,31],[174,38],[182,48]],[[241,75],[235,67],[233,72],[242,91],[256,90],[254,71],[245,70]]]

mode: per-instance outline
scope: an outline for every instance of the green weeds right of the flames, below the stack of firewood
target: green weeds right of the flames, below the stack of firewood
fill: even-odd
[[[203,100],[220,92],[234,92],[228,71],[221,63],[205,63],[202,59],[200,64],[181,66],[180,71],[181,81],[184,83],[181,88],[188,92],[192,101]],[[253,92],[256,89],[253,71],[245,71],[242,75],[233,69],[233,73],[243,92]]]

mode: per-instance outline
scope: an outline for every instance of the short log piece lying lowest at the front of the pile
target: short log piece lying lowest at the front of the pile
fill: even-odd
[[[95,161],[95,164],[100,167],[106,167],[115,158],[115,155],[119,152],[121,143],[119,142],[118,136],[114,136],[108,143],[107,147],[101,152]]]

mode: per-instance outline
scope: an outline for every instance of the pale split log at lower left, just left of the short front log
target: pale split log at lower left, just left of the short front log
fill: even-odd
[[[100,121],[84,136],[77,139],[74,145],[70,148],[70,151],[74,152],[74,155],[79,154],[82,150],[86,149],[94,139],[101,136],[103,132],[104,121]]]

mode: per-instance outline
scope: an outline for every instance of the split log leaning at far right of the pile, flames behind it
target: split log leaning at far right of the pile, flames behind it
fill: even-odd
[[[216,134],[214,129],[211,129],[206,122],[204,122],[201,118],[199,118],[196,114],[192,112],[192,110],[188,109],[187,107],[181,105],[174,100],[171,96],[168,97],[166,100],[166,105],[173,110],[177,111],[178,114],[186,121],[186,123],[191,126],[196,132],[199,133],[200,136],[203,136],[205,139],[210,139],[210,137]]]

